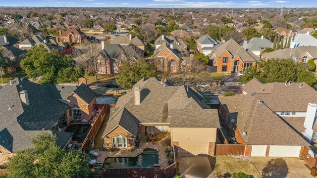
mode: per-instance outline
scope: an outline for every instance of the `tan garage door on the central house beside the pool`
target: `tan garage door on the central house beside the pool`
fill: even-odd
[[[178,145],[193,155],[208,154],[209,142],[179,142]]]

